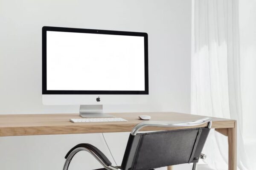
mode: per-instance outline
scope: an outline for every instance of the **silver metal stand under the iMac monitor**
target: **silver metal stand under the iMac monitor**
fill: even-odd
[[[114,117],[108,113],[103,113],[103,105],[80,105],[81,117]]]

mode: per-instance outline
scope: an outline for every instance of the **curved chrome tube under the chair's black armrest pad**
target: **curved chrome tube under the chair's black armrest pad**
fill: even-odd
[[[117,167],[114,167],[114,166],[111,166],[111,165],[106,165],[93,151],[85,148],[85,147],[78,147],[76,149],[74,149],[68,156],[67,156],[67,159],[65,161],[65,164],[64,164],[64,167],[63,167],[63,170],[68,170],[68,167],[70,165],[70,162],[73,158],[74,155],[76,155],[76,153],[78,153],[79,151],[81,150],[84,150],[84,151],[87,151],[89,152],[91,155],[93,155],[94,158],[96,158],[100,164],[103,165],[103,167],[105,167],[107,170],[120,170],[119,168]]]

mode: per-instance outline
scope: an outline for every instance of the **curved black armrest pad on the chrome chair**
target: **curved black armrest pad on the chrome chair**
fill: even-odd
[[[65,159],[67,159],[67,157],[70,155],[70,153],[72,153],[73,150],[75,150],[76,148],[79,147],[83,147],[86,148],[87,150],[92,151],[93,153],[96,154],[96,156],[99,157],[99,159],[101,159],[101,161],[106,164],[107,166],[111,165],[111,161],[108,160],[108,158],[104,155],[104,153],[102,153],[97,147],[91,145],[91,144],[77,144],[75,147],[73,147],[72,149],[70,149],[70,151],[68,151],[67,155],[65,156]],[[73,155],[74,156],[74,155]]]

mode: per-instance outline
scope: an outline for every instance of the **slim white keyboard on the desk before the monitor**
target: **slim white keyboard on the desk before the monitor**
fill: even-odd
[[[90,122],[127,122],[127,120],[116,117],[108,118],[81,118],[81,119],[70,119],[73,123],[90,123]]]

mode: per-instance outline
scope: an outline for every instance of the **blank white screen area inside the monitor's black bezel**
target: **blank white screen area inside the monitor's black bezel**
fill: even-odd
[[[47,31],[47,90],[145,91],[144,37]]]

